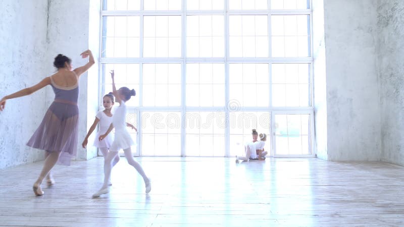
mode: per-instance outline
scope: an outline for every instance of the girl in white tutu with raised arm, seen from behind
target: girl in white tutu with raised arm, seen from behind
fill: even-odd
[[[116,97],[116,101],[119,102],[120,105],[114,113],[112,120],[113,122],[110,125],[110,128],[104,135],[99,136],[99,140],[100,141],[104,140],[114,127],[115,127],[115,138],[114,142],[112,142],[112,145],[110,147],[110,152],[107,154],[107,157],[105,158],[104,162],[104,185],[100,190],[98,190],[98,192],[94,193],[92,196],[99,197],[102,194],[109,193],[108,183],[111,176],[112,160],[115,158],[115,156],[118,155],[118,151],[120,149],[123,149],[125,157],[128,160],[128,163],[132,165],[136,169],[136,171],[142,176],[146,187],[145,192],[149,193],[151,190],[150,179],[147,178],[140,164],[137,161],[133,160],[132,151],[130,147],[132,145],[135,145],[135,143],[130,137],[129,132],[126,129],[126,123],[125,123],[125,117],[127,113],[127,107],[125,102],[128,101],[131,96],[135,96],[136,92],[134,89],[130,90],[127,87],[121,87],[117,90],[115,87],[114,71],[111,71],[111,77],[112,77],[112,90]]]

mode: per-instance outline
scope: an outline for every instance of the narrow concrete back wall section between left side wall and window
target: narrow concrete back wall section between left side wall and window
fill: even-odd
[[[72,59],[73,68],[88,62],[88,59],[81,58],[80,53],[89,48],[89,3],[89,0],[49,1],[47,62],[53,62],[59,53]],[[52,64],[48,67],[52,70]],[[81,147],[81,142],[87,134],[87,88],[89,86],[87,73],[80,77],[79,86],[80,119],[77,158],[86,160],[87,151]],[[48,97],[53,99],[52,91],[48,92]]]

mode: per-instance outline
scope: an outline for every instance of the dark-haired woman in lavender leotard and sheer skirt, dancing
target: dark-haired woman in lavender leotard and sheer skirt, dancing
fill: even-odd
[[[57,73],[0,100],[0,111],[3,111],[7,99],[30,95],[46,85],[51,85],[55,92],[54,102],[49,106],[41,124],[27,143],[30,147],[46,151],[42,171],[32,187],[35,195],[43,195],[41,183],[45,177],[48,185],[54,184],[50,173],[56,162],[70,165],[71,158],[77,153],[79,77],[94,64],[90,50],[80,55],[82,58],[89,57],[89,62],[84,66],[72,70],[71,60],[59,54],[54,62],[54,66],[58,69]]]

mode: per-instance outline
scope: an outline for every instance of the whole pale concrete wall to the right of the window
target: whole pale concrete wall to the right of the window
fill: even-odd
[[[321,19],[321,11],[316,13],[320,2],[313,3],[314,20]],[[398,0],[324,0],[324,58],[318,31],[321,23],[314,21],[313,25],[316,29],[319,24],[314,32],[318,50],[314,54],[314,73],[316,148],[320,158],[404,165],[403,13],[404,2]],[[319,92],[324,85],[318,68],[324,65],[323,59],[325,95],[321,89]]]

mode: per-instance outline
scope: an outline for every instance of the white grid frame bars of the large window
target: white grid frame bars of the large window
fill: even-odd
[[[273,117],[275,113],[279,112],[294,112],[294,113],[310,113],[312,128],[311,128],[311,139],[312,139],[312,154],[311,155],[300,155],[303,156],[315,156],[315,141],[314,141],[314,95],[313,95],[313,15],[312,15],[312,1],[310,0],[310,9],[307,10],[228,10],[229,8],[229,0],[224,0],[224,10],[204,10],[204,11],[186,11],[186,0],[181,0],[182,7],[179,11],[143,11],[144,9],[144,0],[140,0],[140,10],[139,11],[107,11],[103,10],[103,4],[108,0],[102,0],[102,6],[100,9],[100,46],[99,46],[99,63],[103,64],[139,64],[139,107],[129,107],[129,112],[137,113],[137,123],[139,132],[137,133],[137,141],[141,141],[141,120],[140,116],[143,111],[179,111],[181,115],[184,116],[187,111],[223,111],[226,113],[226,116],[229,116],[230,112],[228,108],[226,108],[226,103],[229,103],[229,64],[232,63],[266,63],[269,64],[269,106],[268,107],[241,107],[243,111],[267,111],[271,113]],[[271,0],[268,0],[268,9],[270,8]],[[271,15],[296,15],[296,14],[306,14],[310,16],[310,55],[309,57],[296,57],[296,58],[273,58],[271,56]],[[144,16],[181,16],[181,57],[180,58],[143,58],[143,17]],[[186,58],[186,16],[187,15],[224,15],[224,39],[225,39],[225,53],[223,58]],[[268,57],[267,58],[232,58],[229,55],[229,16],[231,15],[267,15],[268,16]],[[106,58],[102,56],[102,45],[103,45],[103,31],[105,31],[105,25],[103,24],[104,16],[140,16],[140,41],[139,41],[139,58]],[[142,64],[144,63],[179,63],[181,64],[181,106],[178,107],[144,107],[142,106]],[[223,107],[187,107],[185,102],[185,72],[186,72],[186,64],[187,63],[223,63],[225,65],[225,106]],[[307,107],[274,107],[272,106],[272,75],[271,75],[271,65],[273,63],[306,63],[311,65],[311,84],[310,84],[310,93],[311,93],[311,106]],[[99,79],[102,81],[102,88],[100,89],[99,99],[101,100],[103,94],[105,93],[104,86],[104,77],[105,75],[104,67],[100,70]],[[102,108],[102,106],[100,106]],[[184,119],[184,118],[181,118]],[[272,118],[273,119],[273,118]],[[272,121],[271,119],[271,121]],[[228,118],[226,120],[229,120]],[[183,120],[182,120],[183,121]],[[186,156],[185,151],[185,122],[181,122],[181,156]],[[273,121],[271,127],[271,154],[273,154]],[[242,141],[241,141],[242,142]],[[225,152],[224,156],[230,156],[230,128],[227,126],[225,128]],[[138,142],[138,146],[136,148],[136,152],[134,152],[135,156],[143,156],[142,152],[142,143]]]

